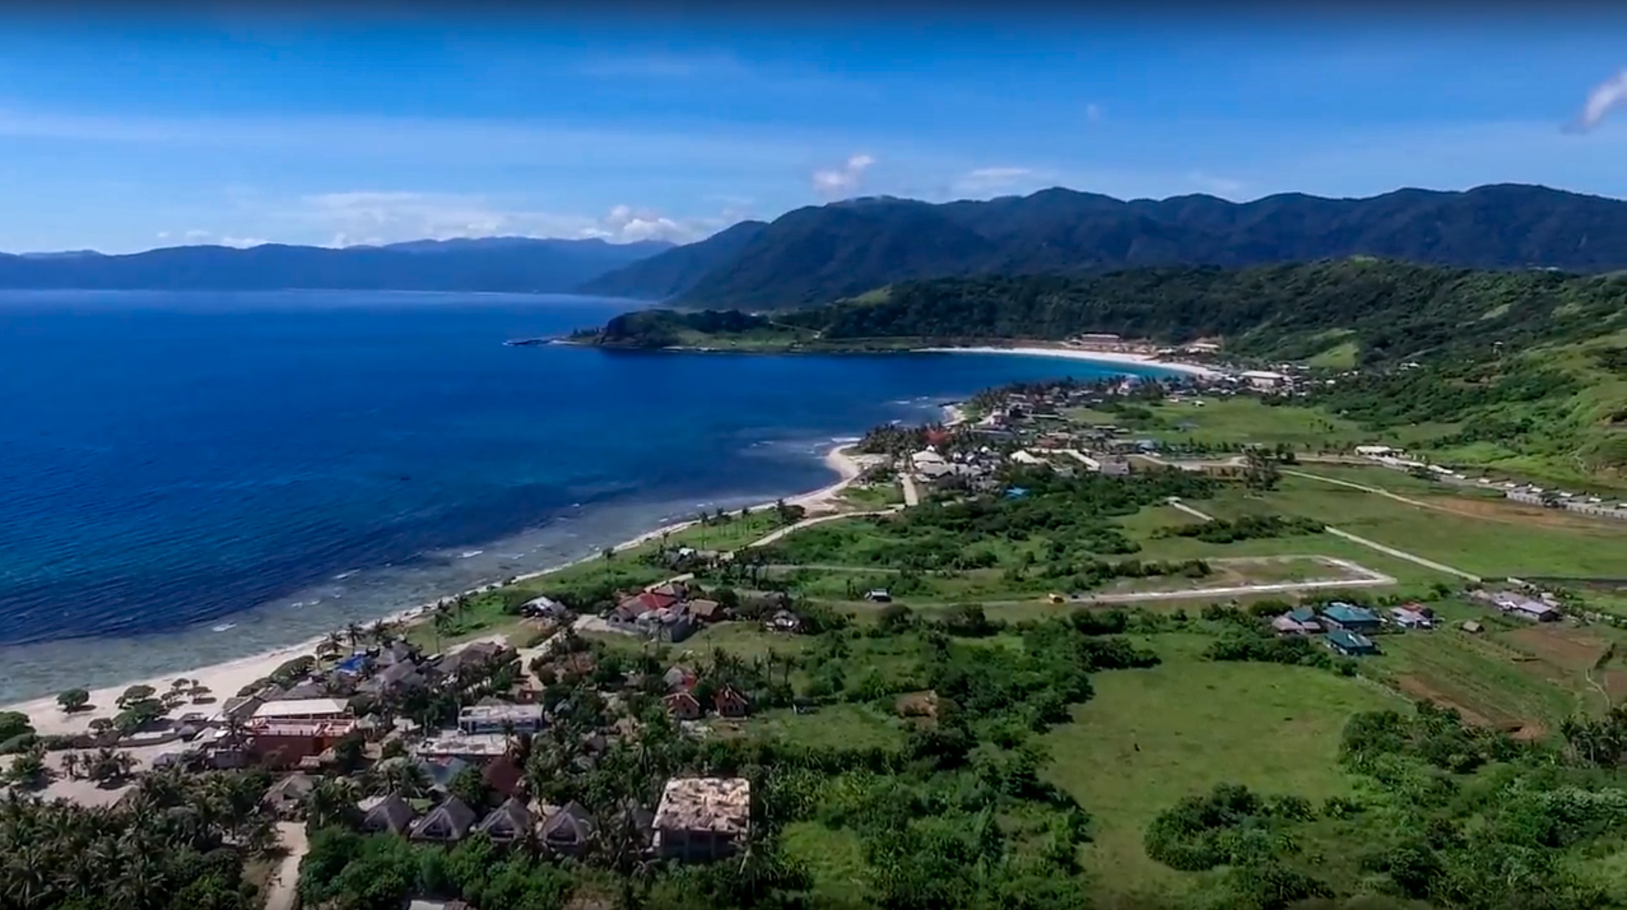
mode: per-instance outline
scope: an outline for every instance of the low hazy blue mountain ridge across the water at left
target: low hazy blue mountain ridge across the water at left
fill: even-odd
[[[174,246],[0,254],[7,290],[403,290],[571,293],[584,282],[670,251],[665,241],[457,238],[390,246]]]

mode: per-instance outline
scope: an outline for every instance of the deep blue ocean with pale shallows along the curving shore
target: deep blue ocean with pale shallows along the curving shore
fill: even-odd
[[[820,487],[833,441],[988,386],[1121,371],[503,345],[635,306],[0,295],[0,702],[301,641]]]

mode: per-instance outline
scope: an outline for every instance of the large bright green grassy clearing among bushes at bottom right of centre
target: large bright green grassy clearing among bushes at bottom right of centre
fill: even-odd
[[[1204,661],[1206,635],[1137,637],[1163,663],[1092,676],[1095,697],[1043,737],[1045,777],[1093,816],[1084,863],[1108,894],[1170,897],[1207,874],[1147,858],[1142,832],[1183,796],[1217,783],[1311,799],[1347,796],[1339,731],[1355,711],[1399,708],[1391,693],[1326,671]]]

